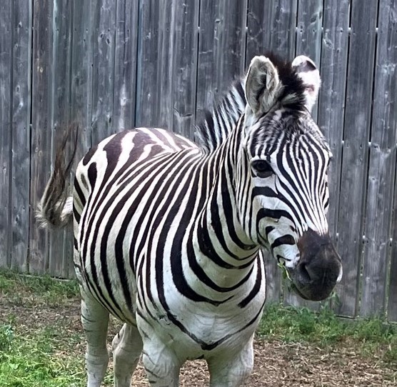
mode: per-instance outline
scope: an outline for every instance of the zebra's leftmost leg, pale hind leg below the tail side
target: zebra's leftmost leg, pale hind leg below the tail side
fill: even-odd
[[[109,362],[106,348],[109,312],[83,291],[81,295],[81,323],[87,341],[87,387],[100,387]]]

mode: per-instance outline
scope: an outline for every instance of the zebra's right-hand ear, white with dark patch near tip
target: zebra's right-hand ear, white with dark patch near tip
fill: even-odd
[[[311,111],[316,103],[318,90],[320,89],[320,73],[314,62],[307,56],[296,56],[292,61],[292,69],[296,71],[298,77],[303,81],[305,86],[306,108]]]

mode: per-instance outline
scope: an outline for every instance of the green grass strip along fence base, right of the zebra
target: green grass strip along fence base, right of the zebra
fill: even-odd
[[[327,346],[354,342],[363,355],[380,352],[383,361],[397,365],[397,326],[371,318],[352,322],[338,318],[327,306],[320,311],[273,304],[266,308],[258,336],[284,342]]]

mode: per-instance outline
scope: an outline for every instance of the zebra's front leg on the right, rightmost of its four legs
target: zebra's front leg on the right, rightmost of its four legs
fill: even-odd
[[[208,359],[211,375],[210,387],[238,387],[251,374],[253,368],[253,336],[238,353],[231,353],[227,358]]]

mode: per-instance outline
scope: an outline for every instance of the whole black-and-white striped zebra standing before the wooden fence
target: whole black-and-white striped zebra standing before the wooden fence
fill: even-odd
[[[38,218],[73,219],[88,387],[109,362],[109,313],[124,322],[115,386],[131,385],[139,358],[151,386],[178,386],[198,358],[212,387],[241,386],[266,298],[261,248],[301,297],[329,296],[342,265],[326,220],[331,151],[311,117],[320,83],[306,56],[255,56],[198,144],[164,129],[114,134],[79,162],[73,196],[64,142]]]

